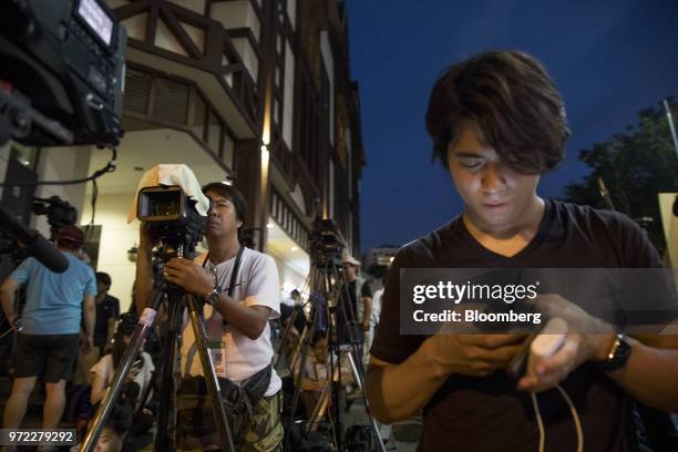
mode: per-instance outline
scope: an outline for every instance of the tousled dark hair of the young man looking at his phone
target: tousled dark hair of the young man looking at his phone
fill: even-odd
[[[535,58],[517,51],[483,52],[438,78],[427,131],[433,138],[433,160],[445,168],[448,148],[465,124],[476,124],[504,164],[527,174],[554,168],[569,136],[554,81]]]

